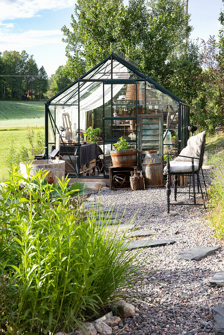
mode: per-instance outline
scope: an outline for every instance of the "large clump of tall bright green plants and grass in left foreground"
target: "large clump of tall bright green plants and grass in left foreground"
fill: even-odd
[[[124,234],[109,232],[109,216],[101,227],[95,209],[87,214],[72,205],[68,179],[56,188],[43,178],[25,179],[14,169],[0,188],[2,334],[82,326],[115,291],[133,287],[133,275],[144,266],[136,261],[138,251],[125,251]]]

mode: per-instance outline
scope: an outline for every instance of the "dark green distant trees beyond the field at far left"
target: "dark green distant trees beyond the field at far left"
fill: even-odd
[[[44,66],[38,68],[33,55],[25,50],[0,53],[0,99],[41,99],[47,90],[48,75]]]

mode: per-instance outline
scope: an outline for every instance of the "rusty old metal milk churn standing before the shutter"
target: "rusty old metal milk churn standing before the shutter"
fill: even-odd
[[[161,159],[157,155],[157,150],[148,150],[145,152],[142,170],[145,179],[145,187],[164,187],[163,165]]]

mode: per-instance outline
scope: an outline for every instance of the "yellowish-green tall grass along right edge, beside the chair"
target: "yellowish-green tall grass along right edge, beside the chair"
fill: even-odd
[[[212,164],[209,193],[209,219],[215,227],[216,237],[224,238],[224,150],[210,157]]]

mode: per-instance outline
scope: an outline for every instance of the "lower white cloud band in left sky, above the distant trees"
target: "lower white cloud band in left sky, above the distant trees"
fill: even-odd
[[[24,50],[49,44],[63,44],[61,30],[28,30],[20,34],[0,31],[0,50]]]

